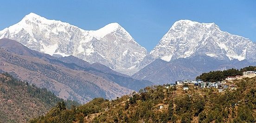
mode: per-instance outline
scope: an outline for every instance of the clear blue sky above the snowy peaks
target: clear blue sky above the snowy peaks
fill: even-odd
[[[2,0],[0,30],[30,12],[84,30],[117,22],[148,51],[180,19],[214,22],[256,42],[256,0]]]

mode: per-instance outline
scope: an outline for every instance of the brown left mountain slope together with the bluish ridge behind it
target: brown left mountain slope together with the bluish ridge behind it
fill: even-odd
[[[91,65],[72,56],[58,59],[42,54],[14,40],[0,39],[0,47],[0,71],[47,88],[60,98],[85,103],[96,97],[120,97],[152,85],[147,80],[134,80],[101,64]]]

